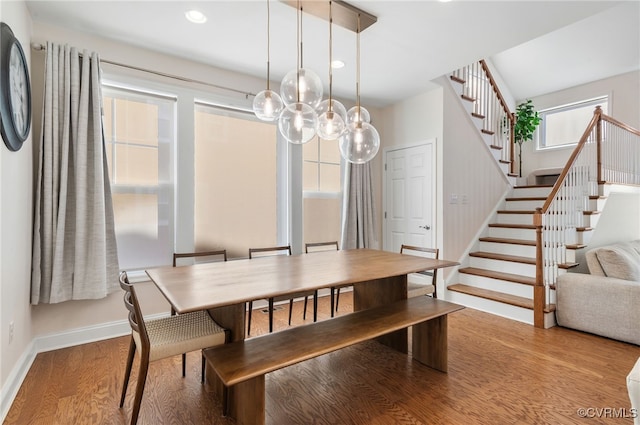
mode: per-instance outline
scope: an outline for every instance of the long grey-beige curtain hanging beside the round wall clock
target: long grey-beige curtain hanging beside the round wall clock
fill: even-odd
[[[118,256],[96,53],[47,43],[31,303],[103,298]]]

